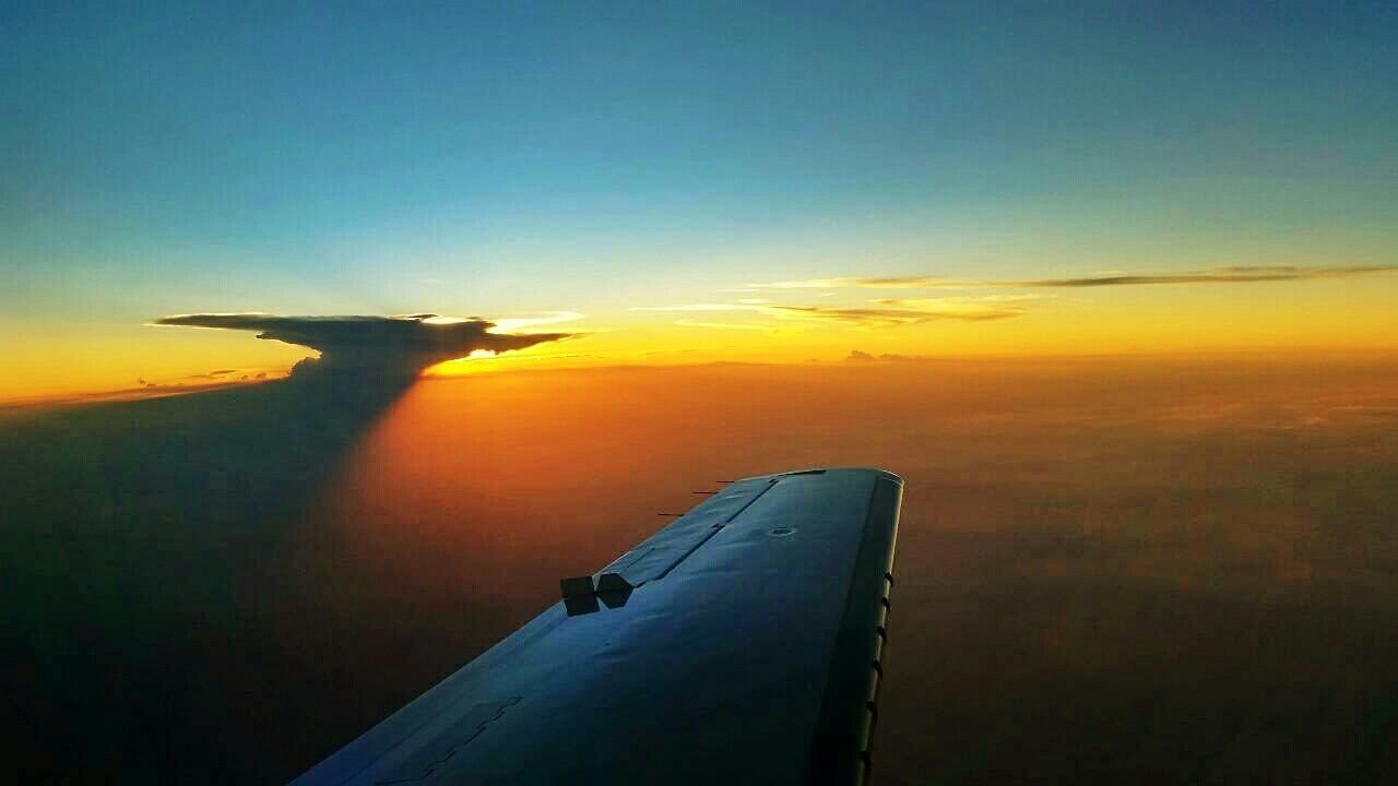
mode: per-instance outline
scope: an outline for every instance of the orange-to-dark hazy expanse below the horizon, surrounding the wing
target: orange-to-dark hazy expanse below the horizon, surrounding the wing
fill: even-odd
[[[20,771],[278,783],[713,481],[907,481],[878,783],[1398,776],[1398,364],[285,383],[0,421]]]

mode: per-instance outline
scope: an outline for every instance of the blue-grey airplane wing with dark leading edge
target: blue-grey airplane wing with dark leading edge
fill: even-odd
[[[863,783],[902,495],[731,483],[292,783]]]

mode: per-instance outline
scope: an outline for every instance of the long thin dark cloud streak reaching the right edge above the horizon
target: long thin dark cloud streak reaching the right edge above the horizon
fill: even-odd
[[[1355,264],[1342,267],[1324,266],[1233,266],[1209,270],[1158,274],[1097,274],[1074,278],[1019,278],[1019,280],[969,280],[942,276],[906,277],[846,277],[807,278],[797,281],[770,281],[745,284],[741,291],[762,290],[1033,290],[1033,288],[1079,288],[1079,287],[1130,287],[1145,284],[1248,284],[1269,281],[1307,281],[1320,278],[1353,278],[1398,271],[1398,264]]]

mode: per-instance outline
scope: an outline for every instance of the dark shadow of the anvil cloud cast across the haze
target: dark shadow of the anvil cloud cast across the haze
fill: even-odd
[[[298,373],[0,421],[0,712],[18,722],[21,780],[278,772],[226,755],[218,719],[249,696],[217,674],[257,652],[259,562],[412,382]]]

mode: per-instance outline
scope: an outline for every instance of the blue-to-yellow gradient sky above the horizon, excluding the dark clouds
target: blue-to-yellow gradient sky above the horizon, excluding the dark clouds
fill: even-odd
[[[145,324],[190,312],[577,312],[528,352],[598,362],[1391,348],[1398,276],[1317,271],[1398,263],[1395,41],[1380,3],[0,3],[0,399],[308,354]],[[1240,266],[1303,271],[740,291]],[[766,308],[875,298],[941,319]]]

